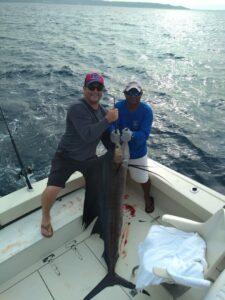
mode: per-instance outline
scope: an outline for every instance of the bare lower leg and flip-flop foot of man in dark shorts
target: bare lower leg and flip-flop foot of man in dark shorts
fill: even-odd
[[[53,229],[51,227],[50,210],[54,204],[58,193],[62,188],[57,186],[47,186],[42,194],[42,221],[41,221],[41,233],[45,237],[51,237]]]

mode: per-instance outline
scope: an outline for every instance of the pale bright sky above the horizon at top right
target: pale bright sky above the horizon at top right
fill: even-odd
[[[225,0],[110,0],[124,2],[152,2],[181,5],[192,9],[225,9]]]

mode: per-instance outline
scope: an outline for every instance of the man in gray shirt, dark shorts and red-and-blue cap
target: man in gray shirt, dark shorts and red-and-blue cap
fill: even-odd
[[[84,176],[96,157],[100,140],[110,124],[118,119],[118,110],[107,112],[100,105],[104,79],[98,73],[87,74],[84,81],[83,99],[70,106],[66,118],[66,130],[52,160],[47,187],[42,195],[41,233],[53,235],[50,210],[60,190],[75,171]]]

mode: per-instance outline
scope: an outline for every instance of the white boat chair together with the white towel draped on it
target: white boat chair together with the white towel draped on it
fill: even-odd
[[[136,287],[144,288],[149,284],[162,282],[189,287],[209,287],[213,272],[225,257],[224,209],[218,210],[206,222],[196,222],[173,215],[163,215],[162,220],[173,227],[153,225],[154,229],[153,226],[150,228],[145,241],[139,246],[141,263]],[[182,238],[183,236],[191,237],[191,240],[185,244],[187,247],[184,247],[188,255],[185,253],[183,256],[184,240],[180,238],[180,233]],[[184,257],[181,265],[179,264],[180,254]],[[189,257],[190,261],[185,260],[185,257]],[[182,272],[179,273],[179,268],[183,265],[184,272],[186,272],[186,266],[188,270],[187,275],[185,273],[184,276]],[[174,266],[175,270],[178,270],[178,276],[174,273]],[[194,274],[192,270],[197,272]],[[189,274],[191,275],[188,278]]]

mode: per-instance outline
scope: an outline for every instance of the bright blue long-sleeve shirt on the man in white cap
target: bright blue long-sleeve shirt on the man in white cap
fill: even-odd
[[[129,128],[133,132],[133,137],[129,142],[130,158],[136,159],[147,154],[147,139],[150,135],[153,111],[149,104],[140,102],[136,111],[129,111],[126,100],[119,100],[116,103],[119,111],[119,119],[114,126],[120,132],[124,128]]]

